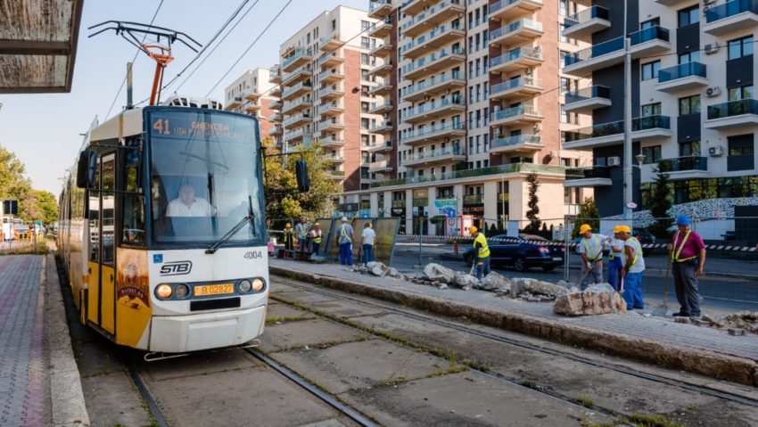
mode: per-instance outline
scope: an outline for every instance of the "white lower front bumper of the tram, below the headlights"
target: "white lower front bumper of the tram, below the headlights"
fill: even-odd
[[[185,316],[154,316],[149,351],[184,353],[243,344],[260,335],[266,306]]]

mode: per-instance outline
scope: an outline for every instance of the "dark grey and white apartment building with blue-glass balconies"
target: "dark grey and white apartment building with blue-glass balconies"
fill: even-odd
[[[591,114],[593,125],[564,132],[564,148],[591,150],[594,165],[570,173],[565,185],[593,188],[607,217],[623,208],[624,14],[619,1],[580,3],[563,35],[592,46],[566,55],[563,72],[591,75],[592,85],[566,94],[566,110]],[[729,215],[735,198],[758,196],[758,5],[628,0],[628,7],[634,201],[649,207],[660,164],[673,180],[675,205]]]

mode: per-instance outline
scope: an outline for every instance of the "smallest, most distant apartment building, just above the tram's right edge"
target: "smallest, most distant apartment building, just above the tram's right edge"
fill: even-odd
[[[265,68],[248,70],[224,89],[224,110],[258,117],[261,138],[272,135],[281,121],[273,109],[279,98],[271,92],[274,85],[269,82],[270,73]]]

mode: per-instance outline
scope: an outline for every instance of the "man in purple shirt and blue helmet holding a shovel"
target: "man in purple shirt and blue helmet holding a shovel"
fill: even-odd
[[[689,229],[686,215],[677,217],[677,230],[671,243],[666,246],[671,254],[671,267],[674,274],[674,289],[681,306],[679,313],[673,316],[700,318],[700,292],[697,289],[697,277],[703,275],[705,265],[705,244],[700,234]]]

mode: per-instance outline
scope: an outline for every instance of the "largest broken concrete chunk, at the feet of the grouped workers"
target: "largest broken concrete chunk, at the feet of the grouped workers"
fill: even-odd
[[[608,283],[589,286],[583,292],[559,295],[553,311],[565,316],[605,315],[626,312],[626,303],[619,292]]]

